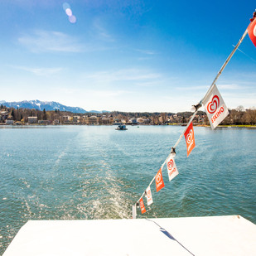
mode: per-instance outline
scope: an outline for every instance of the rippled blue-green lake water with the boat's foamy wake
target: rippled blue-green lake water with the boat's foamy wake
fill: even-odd
[[[180,174],[143,217],[242,215],[256,224],[256,129],[194,128],[176,147]],[[0,254],[27,220],[131,218],[183,127],[0,128]]]

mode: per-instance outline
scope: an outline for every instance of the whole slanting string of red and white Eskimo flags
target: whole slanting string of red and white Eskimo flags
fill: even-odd
[[[135,205],[133,205],[133,219],[136,218],[137,211],[136,207],[140,206],[142,214],[146,212],[146,207],[143,202],[143,196],[146,196],[147,198],[147,206],[151,205],[153,203],[152,199],[152,191],[151,191],[151,185],[152,182],[155,181],[156,183],[156,191],[159,192],[162,190],[162,188],[165,186],[164,181],[162,179],[162,170],[165,164],[167,164],[167,172],[169,181],[171,181],[174,177],[176,177],[179,174],[179,171],[177,170],[176,163],[174,161],[174,158],[176,157],[176,146],[181,141],[181,138],[184,136],[186,140],[186,153],[187,157],[191,154],[192,150],[196,147],[195,142],[195,133],[193,128],[193,119],[196,116],[196,113],[198,109],[203,105],[205,109],[205,113],[207,114],[207,117],[210,122],[210,127],[212,129],[215,129],[229,114],[229,110],[227,106],[225,105],[225,102],[223,98],[221,97],[220,91],[215,85],[216,80],[218,80],[219,76],[221,75],[222,71],[225,69],[225,66],[228,64],[231,57],[234,55],[234,52],[238,49],[241,42],[244,40],[244,37],[249,34],[249,38],[254,43],[254,46],[256,46],[256,10],[254,12],[254,17],[250,19],[249,27],[247,27],[246,31],[244,31],[244,35],[240,38],[237,45],[234,47],[234,50],[230,53],[227,60],[225,60],[224,65],[222,65],[220,71],[215,77],[215,80],[210,85],[210,89],[206,92],[203,99],[200,100],[199,104],[194,105],[195,111],[194,114],[191,116],[190,121],[187,123],[186,128],[184,129],[183,133],[181,133],[180,138],[177,140],[174,147],[171,147],[171,152],[169,153],[167,159],[162,163],[162,166],[157,171],[157,174],[152,178],[152,181],[147,186],[147,189],[143,192],[142,196],[139,198],[139,200],[136,202]]]

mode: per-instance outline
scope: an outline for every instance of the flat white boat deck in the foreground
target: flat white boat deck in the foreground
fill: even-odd
[[[3,256],[256,255],[256,225],[243,217],[30,220]]]

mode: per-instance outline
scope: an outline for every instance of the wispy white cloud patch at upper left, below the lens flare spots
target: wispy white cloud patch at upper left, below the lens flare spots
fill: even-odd
[[[34,31],[31,35],[23,35],[18,42],[33,52],[80,52],[83,46],[75,37],[60,31]]]

